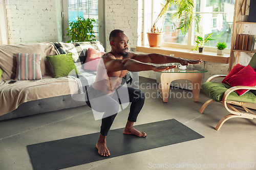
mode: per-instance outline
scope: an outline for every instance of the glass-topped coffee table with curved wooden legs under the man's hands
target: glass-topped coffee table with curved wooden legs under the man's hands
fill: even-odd
[[[172,81],[174,80],[181,79],[189,80],[192,83],[194,102],[198,102],[202,82],[201,72],[207,71],[207,69],[198,68],[196,67],[196,65],[193,64],[186,66],[186,69],[179,69],[177,65],[177,68],[163,71],[161,73],[160,82],[158,86],[158,91],[162,96],[163,102],[168,101],[170,83],[172,83]]]

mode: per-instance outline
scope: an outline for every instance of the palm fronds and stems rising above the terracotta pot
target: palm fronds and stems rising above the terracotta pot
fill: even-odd
[[[193,20],[195,20],[195,23],[196,23],[196,30],[199,29],[200,16],[195,15],[195,7],[194,7],[193,0],[165,0],[165,1],[166,1],[166,4],[162,5],[163,8],[160,14],[158,15],[156,21],[154,22],[154,25],[152,26],[149,33],[162,33],[162,28],[159,29],[157,27],[157,23],[163,16],[164,18],[166,17],[168,8],[172,4],[174,4],[177,7],[177,12],[173,14],[173,17],[179,20],[180,26],[177,29],[180,29],[182,34],[187,33],[190,27],[190,23]]]

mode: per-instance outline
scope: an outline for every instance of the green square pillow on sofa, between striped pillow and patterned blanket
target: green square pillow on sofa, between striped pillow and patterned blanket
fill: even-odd
[[[51,64],[54,78],[80,74],[74,64],[72,53],[48,56],[46,58]]]

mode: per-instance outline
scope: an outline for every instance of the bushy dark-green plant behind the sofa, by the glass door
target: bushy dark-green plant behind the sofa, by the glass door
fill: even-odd
[[[67,42],[84,42],[84,41],[96,41],[96,36],[93,31],[93,22],[95,19],[78,17],[76,21],[69,22],[68,34],[72,39]]]

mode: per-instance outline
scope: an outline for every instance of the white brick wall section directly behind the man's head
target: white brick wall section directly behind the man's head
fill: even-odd
[[[114,29],[124,31],[129,38],[130,48],[137,46],[138,5],[142,0],[106,0],[105,32],[106,52],[111,51],[109,35]],[[141,12],[141,11],[140,11]],[[139,30],[140,32],[141,30]]]

